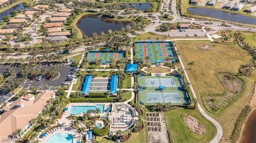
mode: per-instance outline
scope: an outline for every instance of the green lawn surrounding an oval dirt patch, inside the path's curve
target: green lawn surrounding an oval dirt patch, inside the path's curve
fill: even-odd
[[[180,117],[182,114],[189,114],[196,118],[206,128],[206,133],[201,136],[194,136]],[[167,129],[173,132],[176,143],[208,143],[216,135],[217,129],[214,124],[205,119],[198,110],[186,110],[178,108],[164,112]]]

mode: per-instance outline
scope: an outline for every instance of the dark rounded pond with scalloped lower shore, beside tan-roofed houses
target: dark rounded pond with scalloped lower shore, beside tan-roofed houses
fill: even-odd
[[[105,34],[108,30],[120,31],[122,27],[126,28],[126,25],[130,25],[129,21],[118,21],[112,19],[105,19],[95,15],[84,15],[76,23],[83,35],[92,37],[92,33],[96,32],[98,35],[103,31]]]

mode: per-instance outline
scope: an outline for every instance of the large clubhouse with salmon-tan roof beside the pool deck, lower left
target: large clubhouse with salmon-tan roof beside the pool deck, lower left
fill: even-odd
[[[2,108],[0,137],[8,137],[16,129],[22,129],[21,136],[25,135],[33,127],[31,119],[42,112],[51,98],[55,98],[55,92],[44,90],[36,98],[33,94],[20,96],[11,105]]]

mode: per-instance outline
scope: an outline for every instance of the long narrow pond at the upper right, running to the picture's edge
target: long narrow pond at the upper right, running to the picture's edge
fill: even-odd
[[[246,22],[246,24],[256,25],[256,19],[243,16],[241,14],[234,14],[232,12],[224,12],[221,10],[213,10],[208,8],[187,8],[186,10],[190,10],[191,14],[200,15],[206,14],[208,17],[217,18],[220,20],[227,20],[230,22],[242,23]]]

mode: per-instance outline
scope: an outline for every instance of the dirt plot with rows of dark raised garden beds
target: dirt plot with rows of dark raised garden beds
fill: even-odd
[[[146,115],[149,143],[168,143],[169,139],[164,114],[160,112],[147,112]]]

